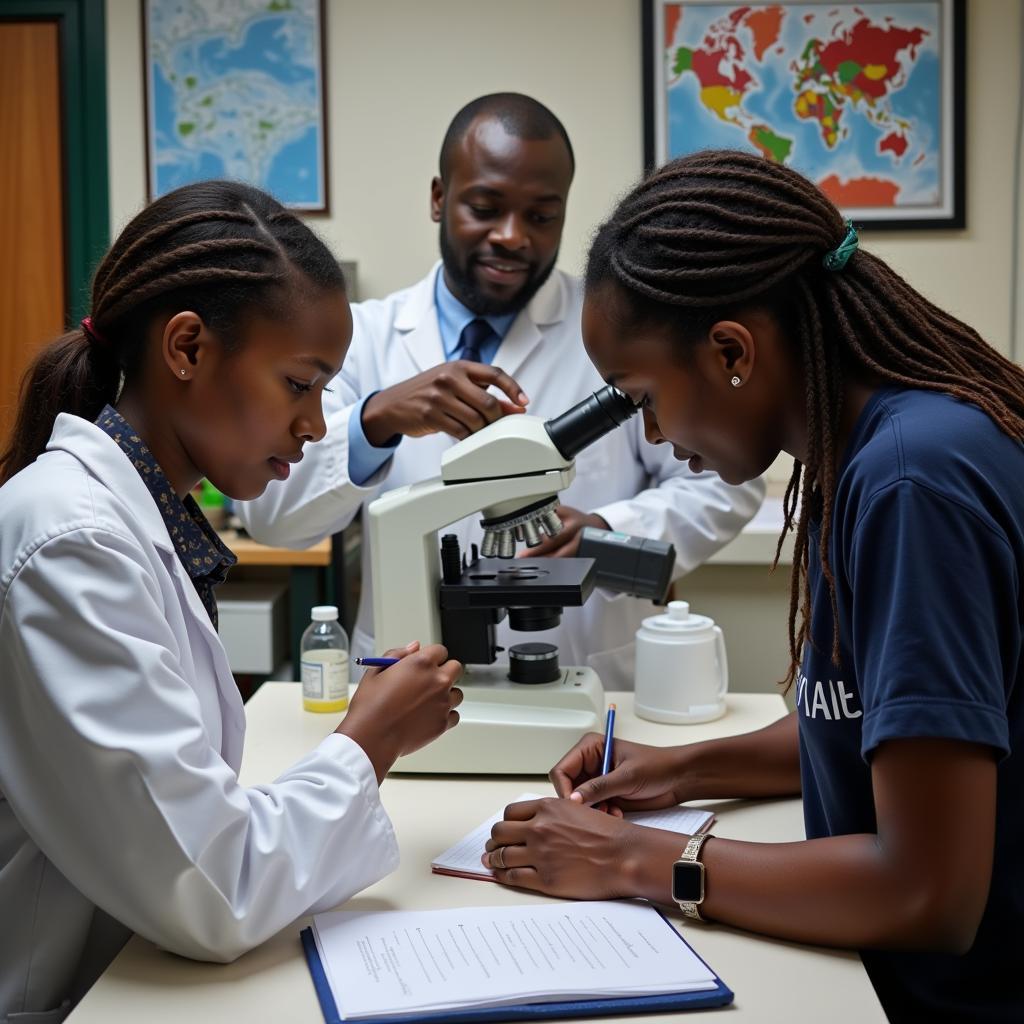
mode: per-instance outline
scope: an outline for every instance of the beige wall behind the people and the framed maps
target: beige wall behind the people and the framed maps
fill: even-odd
[[[111,216],[145,201],[138,0],[108,0]],[[311,218],[359,266],[364,296],[418,280],[435,258],[427,189],[452,115],[498,89],[530,93],[577,151],[562,265],[640,174],[636,0],[327,0],[332,213]],[[1021,5],[968,5],[968,228],[868,236],[927,295],[1009,350],[1014,128]]]

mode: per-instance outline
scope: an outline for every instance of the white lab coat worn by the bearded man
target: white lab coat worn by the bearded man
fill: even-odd
[[[274,481],[256,501],[241,505],[243,521],[258,541],[307,547],[347,525],[362,502],[440,472],[441,455],[454,441],[433,434],[404,438],[364,486],[348,477],[353,403],[444,361],[434,305],[439,267],[412,288],[352,306],[352,345],[333,392],[325,395],[327,436],[307,446],[286,482]],[[581,283],[556,270],[515,318],[495,355],[494,364],[528,395],[532,415],[557,416],[604,386],[583,346],[582,307]],[[598,513],[612,529],[671,541],[679,574],[735,537],[759,508],[764,484],[730,486],[715,473],[691,473],[668,444],[646,442],[636,416],[580,453],[575,480],[560,497],[565,505]],[[466,551],[469,542],[480,543],[478,523],[479,516],[470,517],[445,532],[458,534]],[[372,587],[369,545],[364,544],[362,596],[352,638],[356,655],[374,652]],[[608,689],[633,689],[633,638],[643,617],[654,611],[649,601],[598,590],[582,608],[566,608],[558,629],[512,633],[505,623],[499,643],[506,648],[530,640],[556,643],[563,665],[590,666]]]

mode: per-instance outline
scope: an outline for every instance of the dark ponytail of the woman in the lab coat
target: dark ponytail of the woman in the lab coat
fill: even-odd
[[[84,328],[47,345],[22,378],[14,428],[0,455],[0,484],[42,455],[60,413],[95,420],[117,398],[120,381],[113,350]]]

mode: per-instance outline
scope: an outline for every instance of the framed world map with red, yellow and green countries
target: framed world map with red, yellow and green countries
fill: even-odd
[[[743,148],[857,223],[963,227],[963,0],[644,0],[644,159]]]

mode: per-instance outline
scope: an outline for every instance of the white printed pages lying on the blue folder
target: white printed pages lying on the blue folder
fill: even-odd
[[[335,910],[313,918],[344,1020],[714,989],[646,903]]]

